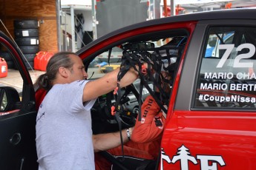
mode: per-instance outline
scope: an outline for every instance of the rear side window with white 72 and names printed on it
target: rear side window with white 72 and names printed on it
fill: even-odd
[[[194,107],[254,109],[255,27],[212,27],[206,42]]]

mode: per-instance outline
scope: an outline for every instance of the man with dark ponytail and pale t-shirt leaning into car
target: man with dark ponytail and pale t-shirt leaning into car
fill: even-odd
[[[50,58],[46,72],[36,84],[47,90],[36,118],[36,150],[39,169],[95,169],[94,152],[120,145],[119,132],[92,135],[91,107],[95,99],[116,88],[114,70],[97,79],[88,78],[81,58],[73,52],[58,52]],[[134,69],[120,86],[137,79]],[[125,130],[122,137],[128,140]]]

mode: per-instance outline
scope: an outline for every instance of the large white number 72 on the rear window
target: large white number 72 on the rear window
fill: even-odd
[[[223,54],[223,57],[220,58],[219,63],[217,64],[216,68],[222,68],[225,64],[226,60],[229,58],[229,55],[231,55],[232,50],[234,49],[234,44],[220,44],[217,48],[217,50],[226,50]],[[253,67],[253,62],[243,62],[241,63],[241,59],[245,58],[251,58],[253,55],[255,55],[255,46],[253,44],[240,44],[237,49],[235,49],[236,52],[239,52],[243,49],[249,49],[249,52],[237,55],[234,58],[234,64],[233,67]]]

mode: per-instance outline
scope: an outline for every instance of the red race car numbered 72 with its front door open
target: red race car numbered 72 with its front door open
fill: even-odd
[[[105,74],[102,63],[140,66],[138,80],[117,94],[120,100],[113,92],[96,100],[91,109],[93,133],[115,132],[119,122],[127,129],[136,119],[145,120],[141,105],[152,95],[166,114],[154,169],[255,170],[255,14],[255,8],[244,8],[145,21],[115,30],[76,52],[91,80]],[[23,81],[19,90],[12,84],[0,87],[0,169],[37,169],[36,108],[45,92],[33,86],[21,51],[1,32],[0,43]],[[144,63],[154,73],[143,68]],[[169,92],[160,85],[163,70],[171,74]],[[111,106],[116,103],[121,107],[113,116]],[[131,169],[133,164],[125,165],[108,151],[101,156],[116,169]]]

